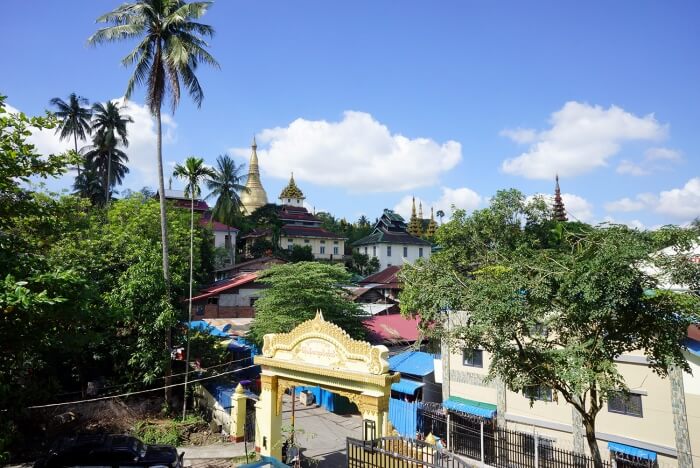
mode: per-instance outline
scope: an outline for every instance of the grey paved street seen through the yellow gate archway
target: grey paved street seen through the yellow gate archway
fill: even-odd
[[[282,411],[282,425],[289,427],[292,405],[288,395]],[[338,467],[345,465],[345,439],[362,435],[362,419],[358,414],[333,414],[316,405],[307,408],[297,400],[296,428],[305,457],[318,460],[319,467]]]

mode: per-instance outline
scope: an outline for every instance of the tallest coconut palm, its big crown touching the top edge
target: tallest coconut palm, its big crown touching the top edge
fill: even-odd
[[[122,59],[124,66],[135,65],[124,96],[129,99],[137,85],[145,85],[146,103],[156,120],[163,276],[168,287],[170,265],[165,217],[161,108],[166,95],[170,95],[172,110],[175,112],[183,85],[195,104],[198,107],[202,105],[204,91],[194,72],[200,63],[219,67],[214,57],[206,51],[208,44],[203,39],[212,37],[214,29],[196,21],[206,13],[210,5],[211,2],[186,3],[183,0],[136,0],[123,3],[97,18],[98,23],[110,26],[98,29],[88,39],[88,43],[93,45],[125,39],[140,41]],[[166,341],[169,348],[169,340]]]

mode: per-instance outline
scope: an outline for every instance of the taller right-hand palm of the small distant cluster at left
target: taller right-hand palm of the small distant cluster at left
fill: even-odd
[[[112,101],[108,101],[106,105],[97,103],[92,106],[92,129],[102,138],[104,146],[108,149],[116,146],[117,140],[124,147],[129,146],[129,140],[126,138],[126,124],[133,123],[134,119],[128,115],[121,115],[121,109],[123,107],[117,106]],[[119,183],[121,184],[121,177],[119,177]],[[113,185],[112,155],[109,154],[107,157],[107,170],[104,173],[104,181],[102,183],[105,201],[108,204],[111,198],[109,192]]]

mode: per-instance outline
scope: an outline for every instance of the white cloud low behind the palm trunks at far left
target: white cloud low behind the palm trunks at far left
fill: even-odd
[[[113,99],[119,104],[124,104],[124,98]],[[6,105],[8,112],[19,112],[15,107]],[[124,185],[119,190],[131,188],[138,190],[148,185],[156,187],[158,183],[158,166],[156,163],[156,123],[151,116],[146,105],[137,104],[134,101],[126,101],[126,107],[122,114],[129,115],[134,119],[133,123],[127,124],[129,147],[125,148],[129,157],[128,167],[131,172],[126,176]],[[175,129],[177,124],[170,115],[162,115],[163,144],[169,145],[176,141]],[[40,130],[32,132],[28,141],[37,147],[40,154],[58,154],[73,148],[73,140],[61,141],[52,130]],[[89,144],[89,141],[78,141],[78,149]],[[163,158],[165,166],[166,184],[169,176],[168,167],[174,165],[171,161]],[[58,179],[61,187],[70,187],[73,184],[74,171]]]

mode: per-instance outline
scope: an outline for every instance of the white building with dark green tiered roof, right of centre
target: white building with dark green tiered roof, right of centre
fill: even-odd
[[[392,210],[384,210],[372,232],[353,242],[353,248],[379,260],[380,270],[430,258],[432,244],[408,233],[406,222]]]

